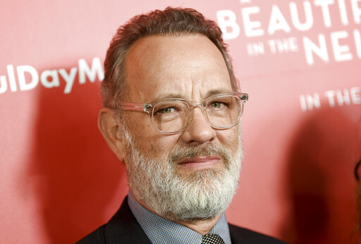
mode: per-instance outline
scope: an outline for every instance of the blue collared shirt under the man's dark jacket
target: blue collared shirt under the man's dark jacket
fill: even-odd
[[[201,243],[202,235],[189,229],[182,224],[159,217],[157,214],[150,212],[145,207],[137,203],[131,193],[128,194],[128,205],[133,212],[135,219],[147,234],[153,244],[166,243],[184,243],[195,244]],[[216,225],[213,226],[209,233],[214,233],[224,240],[224,243],[231,244],[226,214],[222,214]]]

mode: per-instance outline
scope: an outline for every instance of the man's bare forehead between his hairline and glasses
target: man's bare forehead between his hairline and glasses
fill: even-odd
[[[145,102],[177,96],[204,98],[232,91],[219,49],[203,35],[150,36],[135,41],[126,57],[126,97]]]

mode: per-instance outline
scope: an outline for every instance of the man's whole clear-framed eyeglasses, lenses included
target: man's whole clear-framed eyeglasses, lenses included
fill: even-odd
[[[149,114],[153,126],[162,134],[183,131],[192,121],[193,109],[200,106],[204,117],[214,129],[234,127],[243,115],[248,94],[231,92],[209,96],[202,101],[168,98],[148,103],[121,102],[123,110],[143,111]]]

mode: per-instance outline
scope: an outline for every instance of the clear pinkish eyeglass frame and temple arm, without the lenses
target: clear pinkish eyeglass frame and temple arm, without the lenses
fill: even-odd
[[[208,113],[207,113],[207,105],[209,104],[210,101],[214,101],[214,99],[216,99],[216,98],[224,98],[224,97],[227,97],[227,96],[232,96],[232,97],[235,97],[235,98],[238,99],[238,102],[240,103],[239,104],[240,105],[240,110],[239,110],[238,118],[232,124],[228,124],[226,126],[216,126],[216,125],[212,124],[212,122],[209,120]],[[154,117],[154,108],[157,108],[157,105],[159,103],[175,102],[175,101],[187,104],[190,113],[188,113],[188,117],[185,119],[185,122],[183,124],[183,127],[181,127],[181,129],[177,129],[175,131],[161,131],[161,129],[158,129],[157,124],[155,124],[154,119],[153,119],[153,117]],[[247,101],[248,101],[248,94],[239,93],[239,92],[229,92],[229,93],[223,93],[223,94],[215,94],[215,95],[209,96],[208,98],[205,98],[202,101],[188,101],[188,100],[185,100],[183,98],[166,98],[166,99],[163,99],[163,100],[149,101],[147,103],[132,103],[132,102],[121,101],[121,108],[123,110],[141,111],[141,112],[148,113],[149,118],[150,118],[150,120],[152,122],[152,125],[161,134],[177,134],[177,133],[183,131],[188,126],[188,124],[190,124],[190,122],[192,121],[193,109],[198,107],[198,106],[201,108],[204,117],[206,118],[207,122],[210,124],[210,126],[213,129],[229,129],[231,127],[234,127],[242,119],[243,107],[244,107],[244,105],[245,105],[245,103]]]

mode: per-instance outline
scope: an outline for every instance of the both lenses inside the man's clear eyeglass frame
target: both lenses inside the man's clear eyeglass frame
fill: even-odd
[[[165,101],[154,105],[152,120],[159,131],[176,132],[190,120],[190,105],[184,101]],[[204,104],[212,127],[226,128],[238,122],[240,99],[236,96],[219,96]]]

